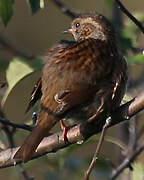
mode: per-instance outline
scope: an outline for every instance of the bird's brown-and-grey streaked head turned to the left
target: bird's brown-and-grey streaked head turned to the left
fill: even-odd
[[[75,18],[68,32],[74,36],[76,41],[88,38],[107,40],[114,35],[110,22],[102,15],[96,13],[82,14]]]

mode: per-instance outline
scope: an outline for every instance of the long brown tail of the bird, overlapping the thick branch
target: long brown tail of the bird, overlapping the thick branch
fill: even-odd
[[[40,126],[34,127],[30,135],[25,139],[23,145],[14,155],[14,159],[26,162],[31,159],[36,148],[45,137],[44,130]]]

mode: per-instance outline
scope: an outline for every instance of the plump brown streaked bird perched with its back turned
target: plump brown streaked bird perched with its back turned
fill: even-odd
[[[79,14],[66,31],[74,40],[61,40],[45,55],[42,74],[26,111],[40,99],[37,123],[14,159],[29,161],[57,122],[108,117],[120,106],[128,79],[127,63],[109,20],[98,13]],[[66,120],[66,121],[64,121]]]

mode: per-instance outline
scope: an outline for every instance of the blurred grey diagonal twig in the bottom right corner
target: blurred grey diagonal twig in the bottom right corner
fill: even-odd
[[[136,157],[144,150],[144,141],[141,142],[135,151],[130,154],[128,157],[126,157],[123,162],[118,166],[116,170],[113,171],[111,177],[109,180],[115,180],[125,168],[128,168],[131,163],[136,159]]]

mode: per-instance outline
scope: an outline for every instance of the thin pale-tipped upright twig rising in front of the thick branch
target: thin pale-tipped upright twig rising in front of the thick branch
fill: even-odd
[[[89,176],[96,164],[96,161],[98,159],[98,155],[100,153],[100,150],[101,150],[101,147],[102,147],[102,143],[103,143],[103,140],[104,140],[104,137],[105,137],[105,133],[106,133],[106,129],[108,128],[108,126],[110,125],[110,122],[111,122],[111,117],[109,117],[108,119],[106,119],[106,123],[105,125],[103,126],[103,129],[102,129],[102,133],[101,133],[101,136],[100,136],[100,139],[98,141],[98,145],[96,147],[96,151],[94,153],[94,156],[93,156],[93,159],[89,165],[89,168],[88,170],[86,171],[86,174],[85,174],[85,178],[84,180],[89,180]]]

